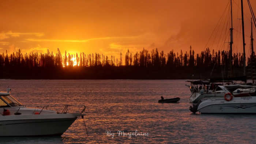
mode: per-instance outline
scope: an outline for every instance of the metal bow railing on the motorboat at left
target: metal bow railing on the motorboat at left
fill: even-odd
[[[76,114],[83,114],[86,106],[84,105],[23,105],[24,107],[29,108],[35,108],[35,111],[39,111],[39,114],[43,110],[54,110],[59,114],[65,114],[65,113],[76,113]],[[17,108],[17,107],[8,107],[10,108]],[[16,111],[16,113],[19,112],[20,108]]]

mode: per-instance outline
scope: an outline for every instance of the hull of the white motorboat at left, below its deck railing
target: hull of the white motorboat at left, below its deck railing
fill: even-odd
[[[5,115],[2,117],[5,120],[0,121],[0,136],[61,136],[76,120],[77,115]]]

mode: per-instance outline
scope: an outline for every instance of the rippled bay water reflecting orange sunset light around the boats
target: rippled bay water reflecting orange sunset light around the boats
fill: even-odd
[[[61,137],[1,137],[0,143],[255,143],[256,115],[192,114],[185,81],[0,80],[0,91],[9,86],[23,105],[85,105],[89,134],[78,118]],[[161,96],[181,100],[158,103]],[[118,130],[148,136],[118,136]]]

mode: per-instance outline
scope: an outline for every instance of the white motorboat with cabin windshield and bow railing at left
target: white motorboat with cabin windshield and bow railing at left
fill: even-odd
[[[70,105],[23,106],[9,91],[0,92],[0,136],[61,136],[84,115],[85,106],[78,113],[68,113]],[[64,108],[57,112],[49,107]]]

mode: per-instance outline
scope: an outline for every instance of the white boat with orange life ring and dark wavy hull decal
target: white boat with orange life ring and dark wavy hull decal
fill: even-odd
[[[232,90],[242,88],[253,88],[246,85],[218,86],[225,96],[215,98],[204,98],[191,106],[189,109],[193,113],[225,113],[225,114],[256,114],[256,89],[237,95],[232,94]],[[252,90],[252,89],[251,89]]]

